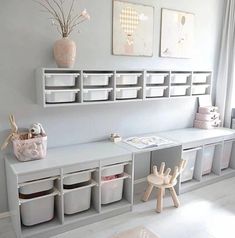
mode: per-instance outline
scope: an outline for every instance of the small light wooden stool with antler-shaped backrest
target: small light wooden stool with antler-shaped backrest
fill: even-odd
[[[163,197],[165,195],[165,190],[169,189],[172,200],[174,202],[175,207],[180,206],[179,199],[175,192],[174,186],[177,184],[177,177],[182,173],[185,169],[186,160],[181,160],[179,166],[176,166],[172,175],[171,169],[168,168],[165,170],[165,163],[161,164],[159,171],[157,170],[157,166],[153,166],[153,174],[150,174],[147,177],[148,187],[144,193],[143,201],[147,202],[149,196],[153,190],[153,187],[157,188],[157,208],[156,211],[160,213],[163,207]]]

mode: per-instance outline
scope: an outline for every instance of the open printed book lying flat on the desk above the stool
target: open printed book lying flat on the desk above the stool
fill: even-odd
[[[138,149],[146,149],[173,143],[170,140],[158,136],[130,137],[125,139],[124,142]]]

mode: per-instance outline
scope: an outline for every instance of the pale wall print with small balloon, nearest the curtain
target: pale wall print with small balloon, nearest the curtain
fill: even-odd
[[[161,57],[192,58],[195,16],[162,9]]]

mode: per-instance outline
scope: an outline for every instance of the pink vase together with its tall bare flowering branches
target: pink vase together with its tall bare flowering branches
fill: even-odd
[[[71,0],[70,7],[66,11],[65,1],[62,0],[45,0],[36,2],[49,13],[54,25],[62,36],[54,44],[54,58],[60,68],[72,68],[76,58],[76,43],[69,38],[70,34],[84,21],[90,19],[87,10],[81,13],[74,10],[75,0]]]

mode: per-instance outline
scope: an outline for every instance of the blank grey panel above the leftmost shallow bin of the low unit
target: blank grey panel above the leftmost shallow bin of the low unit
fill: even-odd
[[[18,183],[24,183],[24,182],[28,182],[32,180],[44,179],[44,178],[59,176],[59,175],[60,175],[60,169],[43,170],[43,171],[38,171],[34,173],[27,173],[27,174],[19,175]]]

